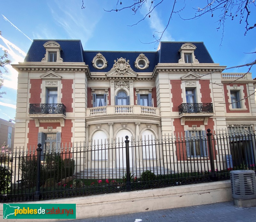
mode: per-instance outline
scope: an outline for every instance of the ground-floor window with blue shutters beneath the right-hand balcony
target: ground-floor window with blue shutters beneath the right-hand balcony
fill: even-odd
[[[185,131],[188,157],[207,157],[206,131]]]

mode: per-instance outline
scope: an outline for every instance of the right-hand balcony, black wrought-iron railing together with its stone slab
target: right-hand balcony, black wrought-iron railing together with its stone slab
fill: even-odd
[[[180,117],[211,117],[214,115],[212,103],[182,103]]]

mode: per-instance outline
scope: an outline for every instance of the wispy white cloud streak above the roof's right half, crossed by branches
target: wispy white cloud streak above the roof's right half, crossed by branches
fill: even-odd
[[[147,1],[143,4],[142,9],[140,10],[140,13],[145,16],[149,12],[151,2]],[[151,13],[150,13],[150,19],[147,19],[149,26],[153,31],[155,32],[156,39],[160,38],[162,33],[164,31],[164,28],[166,27],[167,24],[164,24],[164,22],[161,20],[159,13],[157,12],[157,8],[155,8]],[[158,33],[159,32],[159,33]],[[161,41],[174,41],[172,38],[171,34],[165,30]]]

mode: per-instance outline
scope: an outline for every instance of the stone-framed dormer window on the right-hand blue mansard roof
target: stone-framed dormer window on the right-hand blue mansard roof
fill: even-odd
[[[178,63],[199,63],[195,57],[196,46],[191,43],[185,43],[180,47],[180,59]]]

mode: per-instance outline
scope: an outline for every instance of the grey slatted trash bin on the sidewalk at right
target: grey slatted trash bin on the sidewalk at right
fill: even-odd
[[[232,170],[230,181],[235,206],[256,206],[256,177],[253,170]]]

